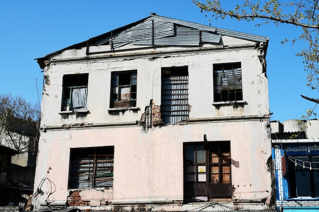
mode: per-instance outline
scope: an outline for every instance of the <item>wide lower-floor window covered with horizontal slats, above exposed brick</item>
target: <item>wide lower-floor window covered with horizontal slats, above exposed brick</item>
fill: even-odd
[[[113,187],[114,146],[71,149],[70,189]]]

